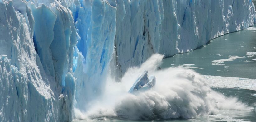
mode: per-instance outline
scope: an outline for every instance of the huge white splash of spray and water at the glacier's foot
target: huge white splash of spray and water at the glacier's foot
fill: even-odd
[[[76,118],[188,119],[216,114],[219,110],[250,110],[237,98],[225,97],[211,90],[210,83],[193,70],[180,67],[158,70],[162,59],[163,55],[154,54],[140,67],[129,68],[121,82],[107,78],[104,94],[86,106],[87,112],[75,110]],[[128,93],[144,70],[156,77],[155,87]]]

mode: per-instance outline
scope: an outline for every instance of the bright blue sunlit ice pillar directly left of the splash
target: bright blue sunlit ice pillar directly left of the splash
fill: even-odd
[[[88,9],[89,5],[91,9]],[[78,108],[85,109],[87,102],[93,99],[92,97],[100,95],[104,89],[105,84],[102,80],[107,74],[114,49],[116,29],[116,7],[114,6],[107,1],[94,0],[83,1],[79,9],[76,26],[84,25],[84,27],[77,27],[78,34],[80,33],[77,48],[83,50],[78,61],[83,60],[79,61],[77,65],[80,67],[77,66],[75,71],[76,107]],[[87,10],[91,11],[86,12]],[[91,14],[91,16],[88,17],[85,14]],[[90,26],[88,27],[87,24]],[[85,32],[84,29],[88,31]]]

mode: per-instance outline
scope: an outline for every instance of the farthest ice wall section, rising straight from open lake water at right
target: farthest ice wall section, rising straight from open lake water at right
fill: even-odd
[[[192,51],[213,38],[255,23],[255,7],[250,0],[167,0],[164,9],[159,52],[165,56]]]

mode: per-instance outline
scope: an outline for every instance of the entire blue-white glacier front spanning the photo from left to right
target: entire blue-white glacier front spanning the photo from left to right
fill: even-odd
[[[71,121],[109,73],[255,22],[251,0],[0,0],[0,121]]]

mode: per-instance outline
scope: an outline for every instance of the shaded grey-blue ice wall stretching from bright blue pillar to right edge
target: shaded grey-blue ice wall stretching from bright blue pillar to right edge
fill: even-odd
[[[255,23],[250,0],[116,0],[117,58],[121,77],[127,68],[154,53],[172,56],[205,45]],[[114,56],[115,57],[115,56]]]

